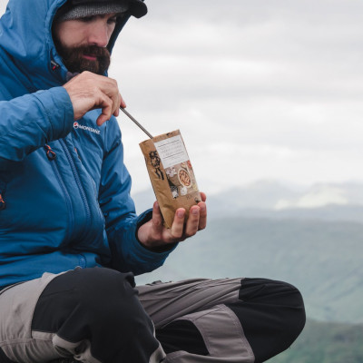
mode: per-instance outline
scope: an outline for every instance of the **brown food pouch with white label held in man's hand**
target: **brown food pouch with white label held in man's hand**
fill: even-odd
[[[140,143],[152,188],[164,225],[172,227],[175,211],[184,208],[188,218],[192,205],[201,201],[188,153],[179,130]]]

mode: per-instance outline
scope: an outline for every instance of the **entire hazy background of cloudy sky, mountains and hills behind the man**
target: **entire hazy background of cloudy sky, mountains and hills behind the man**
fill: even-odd
[[[109,75],[149,132],[181,130],[209,226],[138,282],[289,281],[309,320],[270,362],[362,363],[363,2],[146,4]],[[143,211],[154,198],[138,145],[146,136],[118,121]]]

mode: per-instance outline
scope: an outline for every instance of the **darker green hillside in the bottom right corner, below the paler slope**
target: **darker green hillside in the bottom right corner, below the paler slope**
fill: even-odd
[[[269,363],[362,363],[363,325],[309,320],[291,348]]]

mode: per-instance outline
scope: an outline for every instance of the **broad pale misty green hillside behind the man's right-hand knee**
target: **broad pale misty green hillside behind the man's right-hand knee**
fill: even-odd
[[[138,278],[267,277],[303,294],[309,319],[363,322],[363,225],[234,218],[212,221],[165,266]],[[363,360],[362,360],[363,361]]]

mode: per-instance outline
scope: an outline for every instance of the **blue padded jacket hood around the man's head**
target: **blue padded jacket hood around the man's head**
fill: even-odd
[[[28,81],[30,92],[66,82],[67,70],[57,54],[52,24],[57,10],[66,0],[9,0],[0,19],[0,50],[5,51]],[[117,23],[108,48],[110,52],[130,18],[126,12]]]

